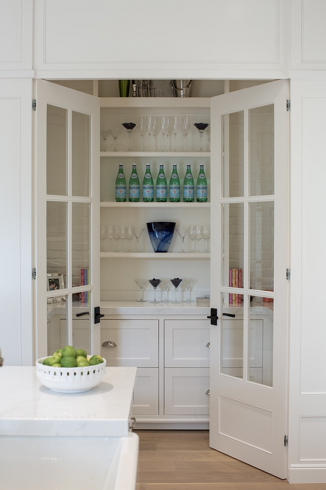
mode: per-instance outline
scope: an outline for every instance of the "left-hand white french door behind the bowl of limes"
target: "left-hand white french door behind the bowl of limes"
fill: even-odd
[[[36,357],[99,353],[100,101],[44,80],[34,94]]]

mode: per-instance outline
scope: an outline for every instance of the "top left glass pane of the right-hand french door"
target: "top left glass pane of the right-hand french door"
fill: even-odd
[[[221,117],[222,196],[244,196],[244,111]]]

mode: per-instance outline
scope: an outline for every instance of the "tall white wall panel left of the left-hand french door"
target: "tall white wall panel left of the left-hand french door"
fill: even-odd
[[[31,79],[0,80],[0,349],[7,366],[33,362]],[[46,324],[46,323],[45,323]]]

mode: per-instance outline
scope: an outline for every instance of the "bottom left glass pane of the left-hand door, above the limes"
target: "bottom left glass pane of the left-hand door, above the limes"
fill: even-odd
[[[46,298],[47,355],[68,344],[67,298],[66,295]]]

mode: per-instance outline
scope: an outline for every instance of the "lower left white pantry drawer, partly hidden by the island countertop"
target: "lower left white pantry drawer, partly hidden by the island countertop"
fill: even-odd
[[[159,369],[138,368],[133,390],[133,415],[158,415]]]

